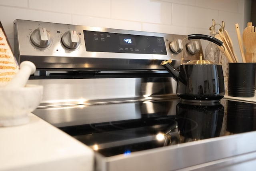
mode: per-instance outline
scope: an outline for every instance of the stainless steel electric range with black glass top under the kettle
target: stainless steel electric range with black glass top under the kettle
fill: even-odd
[[[256,165],[254,103],[188,103],[160,66],[203,54],[184,35],[14,21],[15,56],[44,85],[33,112],[95,151],[95,170],[240,170]],[[182,41],[183,40],[183,41]]]

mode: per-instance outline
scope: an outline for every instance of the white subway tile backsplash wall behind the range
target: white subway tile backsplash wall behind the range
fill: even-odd
[[[214,19],[225,22],[239,56],[234,24],[242,32],[249,15],[250,0],[0,0],[12,47],[15,19],[184,35],[209,34]]]

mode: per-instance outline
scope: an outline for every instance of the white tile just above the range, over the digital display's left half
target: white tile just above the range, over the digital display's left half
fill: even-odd
[[[114,20],[108,18],[95,18],[87,16],[72,16],[72,24],[92,27],[103,27],[103,28],[116,28],[124,30],[137,30],[141,31],[140,22],[130,22],[123,20]]]

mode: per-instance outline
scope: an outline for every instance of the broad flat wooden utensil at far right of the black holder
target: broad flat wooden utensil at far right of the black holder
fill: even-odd
[[[246,62],[254,62],[253,52],[256,48],[256,32],[254,32],[254,26],[252,26],[251,22],[247,24],[247,27],[244,29],[242,37],[245,48]]]

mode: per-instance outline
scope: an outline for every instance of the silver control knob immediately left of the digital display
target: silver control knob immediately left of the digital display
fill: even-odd
[[[61,38],[62,44],[69,49],[76,49],[80,45],[80,37],[75,30],[65,32]]]

